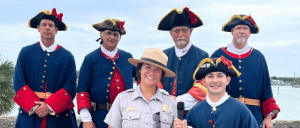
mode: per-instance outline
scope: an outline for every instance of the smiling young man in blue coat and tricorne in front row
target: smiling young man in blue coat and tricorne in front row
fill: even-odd
[[[186,120],[174,120],[174,128],[259,128],[249,109],[230,97],[226,88],[231,78],[241,74],[224,56],[203,59],[194,73],[208,89],[206,99],[195,105]]]

